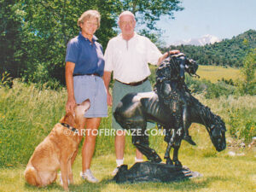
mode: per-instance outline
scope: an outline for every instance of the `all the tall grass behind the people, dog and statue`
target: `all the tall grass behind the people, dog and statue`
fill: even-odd
[[[213,99],[206,99],[202,95],[196,97],[224,119],[230,136],[247,143],[256,136],[256,96],[220,96]],[[66,101],[65,89],[38,89],[34,84],[23,84],[18,80],[14,81],[12,89],[1,88],[0,166],[26,164],[34,148],[64,115]],[[111,130],[111,118],[111,108],[108,108],[108,118],[102,119],[100,129]],[[190,131],[193,132],[193,126]],[[196,138],[197,134],[193,137]],[[113,154],[113,143],[113,135],[98,135],[95,155]],[[166,148],[163,136],[151,136],[149,143],[158,152]],[[134,154],[131,136],[126,137],[125,146],[125,154]]]

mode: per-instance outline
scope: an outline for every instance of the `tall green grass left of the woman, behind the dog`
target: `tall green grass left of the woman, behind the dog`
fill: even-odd
[[[14,81],[0,89],[0,166],[24,164],[64,111],[66,91]]]

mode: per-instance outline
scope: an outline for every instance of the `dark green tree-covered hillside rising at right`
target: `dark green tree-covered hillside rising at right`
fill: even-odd
[[[231,39],[205,46],[179,45],[162,49],[179,49],[201,65],[241,67],[248,49],[256,48],[256,31],[249,30]]]

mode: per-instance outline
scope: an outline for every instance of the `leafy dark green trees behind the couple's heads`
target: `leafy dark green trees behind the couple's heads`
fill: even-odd
[[[173,11],[182,10],[177,0],[0,0],[1,5],[1,70],[12,77],[55,86],[65,84],[64,65],[67,42],[78,35],[79,16],[88,9],[97,9],[102,16],[96,37],[106,48],[117,33],[118,15],[131,10],[137,16],[142,33],[154,32],[161,15],[173,18]],[[150,30],[150,32],[149,32]]]

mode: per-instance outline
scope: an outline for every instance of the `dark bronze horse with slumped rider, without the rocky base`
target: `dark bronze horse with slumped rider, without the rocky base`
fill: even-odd
[[[124,129],[136,130],[132,143],[148,160],[161,161],[148,146],[148,134],[145,134],[148,121],[156,122],[166,130],[166,164],[174,162],[175,166],[182,166],[177,153],[183,139],[195,144],[188,132],[192,123],[206,126],[216,150],[222,151],[226,147],[224,121],[192,96],[184,83],[184,73],[195,76],[197,67],[195,61],[183,54],[171,55],[157,69],[155,91],[129,93],[115,108],[114,118]],[[171,148],[174,148],[172,160]]]

